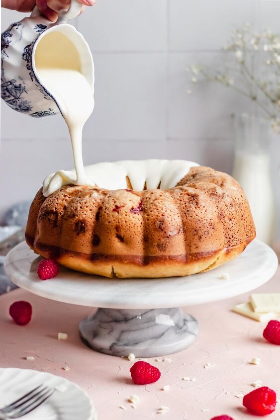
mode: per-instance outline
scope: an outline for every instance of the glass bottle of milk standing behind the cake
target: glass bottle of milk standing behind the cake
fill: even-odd
[[[235,116],[232,176],[244,189],[256,225],[257,238],[272,245],[276,230],[267,121],[255,115]]]

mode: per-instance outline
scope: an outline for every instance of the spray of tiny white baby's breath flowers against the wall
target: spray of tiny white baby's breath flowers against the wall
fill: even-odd
[[[206,80],[235,89],[259,105],[269,116],[273,129],[280,134],[280,34],[272,33],[269,28],[257,33],[249,23],[244,23],[240,29],[232,31],[230,42],[223,50],[233,54],[224,54],[225,60],[220,67],[190,66],[191,82]],[[257,77],[254,71],[259,50],[266,55],[258,74],[267,77]]]

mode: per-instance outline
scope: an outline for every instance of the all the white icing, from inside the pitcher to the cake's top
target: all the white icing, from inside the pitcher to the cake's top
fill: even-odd
[[[84,168],[82,157],[83,126],[93,112],[93,91],[81,72],[79,53],[59,30],[43,35],[35,52],[36,72],[40,82],[52,94],[68,125],[75,169],[51,173],[43,182],[43,194],[47,197],[63,185],[96,185],[105,189],[126,188],[126,176],[132,188],[141,191],[145,183],[148,189],[174,187],[197,164],[189,161],[104,162]]]

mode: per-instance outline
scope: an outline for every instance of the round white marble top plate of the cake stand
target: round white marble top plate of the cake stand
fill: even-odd
[[[213,302],[260,287],[276,272],[275,252],[253,241],[234,260],[221,267],[188,277],[109,279],[60,267],[54,279],[37,276],[40,257],[22,242],[5,258],[5,271],[19,287],[60,302],[100,308],[152,309]],[[222,280],[227,272],[230,280]]]

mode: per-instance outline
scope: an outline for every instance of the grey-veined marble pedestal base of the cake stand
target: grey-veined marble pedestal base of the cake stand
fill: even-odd
[[[180,308],[105,309],[80,323],[85,344],[113,356],[156,357],[189,347],[198,323]]]

